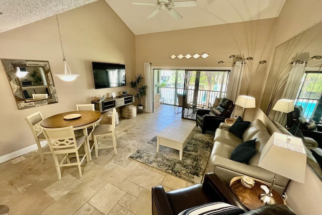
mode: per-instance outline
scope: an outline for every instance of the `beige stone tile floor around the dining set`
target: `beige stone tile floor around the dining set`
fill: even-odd
[[[128,157],[180,118],[176,111],[163,105],[157,114],[121,118],[116,126],[118,155],[105,149],[95,158],[93,151],[93,160],[82,165],[81,178],[77,167],[65,167],[58,181],[51,155],[41,164],[37,152],[0,164],[0,204],[15,215],[151,214],[151,187],[163,185],[168,191],[192,184]]]

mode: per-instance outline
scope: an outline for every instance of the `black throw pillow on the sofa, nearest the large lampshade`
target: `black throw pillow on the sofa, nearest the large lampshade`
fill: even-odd
[[[248,162],[256,154],[256,138],[239,144],[231,153],[230,160]]]

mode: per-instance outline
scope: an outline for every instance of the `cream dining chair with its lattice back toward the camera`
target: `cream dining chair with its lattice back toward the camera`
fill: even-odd
[[[48,141],[54,164],[57,171],[58,180],[61,179],[60,167],[78,166],[79,177],[82,177],[81,164],[88,156],[86,147],[86,136],[76,136],[72,126],[63,128],[42,128],[43,133]],[[79,149],[84,147],[84,154],[79,155]],[[59,161],[58,155],[62,155]],[[71,163],[70,157],[75,157],[76,162]]]

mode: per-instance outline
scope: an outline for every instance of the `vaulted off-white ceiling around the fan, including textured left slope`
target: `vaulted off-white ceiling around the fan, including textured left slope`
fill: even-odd
[[[0,0],[0,33],[36,22],[97,0]],[[197,0],[197,7],[176,8],[183,16],[175,20],[163,10],[146,19],[156,7],[132,5],[132,2],[156,3],[156,0],[105,0],[135,34],[275,18],[286,0]],[[183,0],[173,0],[180,2]]]

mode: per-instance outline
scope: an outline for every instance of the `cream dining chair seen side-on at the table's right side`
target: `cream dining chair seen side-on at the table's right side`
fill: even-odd
[[[94,140],[94,147],[95,147],[95,157],[98,158],[98,150],[99,149],[105,149],[105,148],[114,148],[114,154],[117,155],[117,142],[115,137],[115,115],[116,115],[116,109],[113,108],[112,113],[112,124],[103,124],[103,125],[97,125],[95,127],[95,130],[92,133],[92,139]],[[107,146],[105,144],[102,144],[101,137],[108,136],[112,134],[112,146]]]

